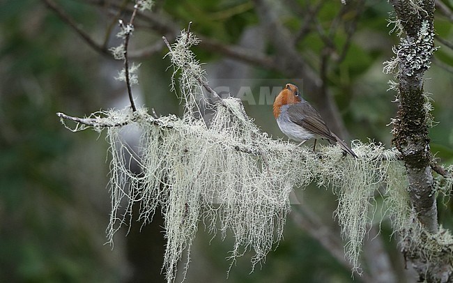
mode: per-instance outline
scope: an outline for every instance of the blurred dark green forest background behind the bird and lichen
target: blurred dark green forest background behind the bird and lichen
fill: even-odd
[[[114,61],[108,48],[121,43],[115,37],[117,22],[130,18],[132,2],[0,1],[0,282],[164,282],[161,215],[144,227],[132,222],[129,233],[129,227],[117,232],[114,247],[105,245],[110,212],[105,135],[70,132],[56,116],[129,106],[125,84],[114,79],[123,63]],[[436,5],[440,48],[424,88],[433,98],[436,121],[431,151],[449,165],[453,3]],[[300,81],[303,95],[334,132],[347,141],[371,140],[391,148],[388,124],[397,112],[396,93],[387,91],[393,77],[382,71],[398,43],[387,21],[391,13],[386,1],[344,6],[323,0],[157,0],[151,12],[137,15],[130,43],[131,60],[141,63],[137,104],[181,115],[180,101],[169,90],[172,70],[167,70],[162,36],[174,42],[192,21],[191,30],[203,40],[194,52],[205,63],[211,86],[227,86],[231,95],[243,98],[264,132],[286,139],[272,116],[272,87]],[[243,86],[250,91],[240,93]],[[296,188],[295,197],[317,222],[290,215],[284,240],[253,273],[249,252],[227,278],[232,239],[211,239],[201,224],[185,282],[353,281],[347,263],[310,230],[325,228],[341,247],[331,189]],[[438,206],[440,222],[452,229],[453,206],[445,199]],[[293,213],[299,212],[294,205]],[[380,234],[379,223],[374,227],[364,246],[364,277],[355,275],[355,282],[413,282],[390,222],[383,222]]]

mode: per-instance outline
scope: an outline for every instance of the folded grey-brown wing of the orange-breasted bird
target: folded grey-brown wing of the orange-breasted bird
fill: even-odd
[[[327,125],[321,115],[309,105],[306,101],[298,102],[294,105],[291,105],[288,109],[289,112],[289,120],[293,121],[306,130],[318,135],[320,137],[324,137],[326,139],[330,139],[334,142],[337,141],[335,137],[330,132]]]

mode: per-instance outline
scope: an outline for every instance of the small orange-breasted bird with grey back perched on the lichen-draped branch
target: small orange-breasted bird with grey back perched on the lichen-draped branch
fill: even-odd
[[[337,142],[347,153],[357,155],[337,135],[331,132],[321,115],[305,101],[299,88],[294,84],[286,84],[274,101],[274,116],[282,132],[290,139],[303,144],[307,139],[328,139]]]

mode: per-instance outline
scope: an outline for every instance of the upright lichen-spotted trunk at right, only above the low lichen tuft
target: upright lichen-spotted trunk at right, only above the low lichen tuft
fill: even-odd
[[[434,2],[423,1],[414,11],[407,1],[392,1],[406,31],[397,47],[399,63],[399,111],[394,120],[393,143],[401,152],[408,170],[410,196],[418,219],[431,233],[438,230],[433,177],[429,170],[427,111],[424,109],[423,75],[434,51]],[[427,30],[422,34],[422,29]],[[417,54],[413,58],[411,54]]]

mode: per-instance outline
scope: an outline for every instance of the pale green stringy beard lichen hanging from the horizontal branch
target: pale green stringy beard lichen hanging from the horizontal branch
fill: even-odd
[[[314,152],[272,139],[259,130],[236,98],[211,105],[213,116],[207,123],[199,107],[206,80],[190,51],[190,45],[198,43],[192,36],[183,33],[168,54],[174,77],[181,76],[178,85],[185,103],[181,118],[157,118],[142,107],[136,112],[111,110],[91,116],[105,125],[93,129],[107,129],[110,145],[109,243],[113,244],[114,234],[123,225],[130,227],[133,206],[139,206],[135,217],[144,224],[153,220],[159,207],[167,238],[163,266],[167,282],[175,280],[184,253],[184,273],[187,270],[201,222],[214,236],[234,238],[231,264],[252,250],[255,266],[282,240],[291,190],[310,183],[332,188],[338,196],[335,215],[346,241],[346,256],[358,273],[362,242],[376,211],[377,188],[387,188],[384,197],[394,231],[403,240],[404,231],[420,231],[410,210],[406,173],[397,151],[355,141],[358,158],[351,158],[338,146],[318,146]],[[139,129],[137,148],[123,137],[130,127]],[[131,169],[132,162],[138,171]]]

